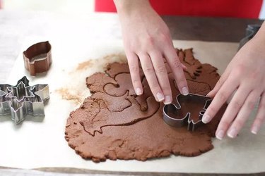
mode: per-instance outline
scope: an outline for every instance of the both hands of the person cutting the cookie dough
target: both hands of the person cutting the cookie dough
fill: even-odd
[[[114,2],[122,24],[124,49],[136,94],[143,94],[139,75],[140,61],[155,99],[165,104],[172,102],[163,58],[175,76],[179,92],[189,94],[183,73],[185,67],[175,52],[169,29],[148,1]],[[265,119],[265,29],[259,33],[263,35],[263,39],[255,37],[245,44],[232,59],[216,87],[208,94],[214,98],[204,113],[202,120],[205,123],[211,121],[223,103],[235,92],[216,130],[218,139],[223,139],[225,133],[228,137],[236,137],[260,97],[252,133],[257,134]]]

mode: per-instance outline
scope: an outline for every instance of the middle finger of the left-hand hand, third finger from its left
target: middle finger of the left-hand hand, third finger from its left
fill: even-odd
[[[153,68],[155,69],[156,77],[158,78],[158,83],[165,96],[165,104],[172,102],[172,92],[170,89],[170,81],[168,80],[167,69],[165,68],[165,63],[163,61],[163,56],[157,52],[150,52],[151,61],[153,63]]]

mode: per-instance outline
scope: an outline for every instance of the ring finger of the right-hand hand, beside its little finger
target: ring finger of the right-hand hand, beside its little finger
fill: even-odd
[[[254,106],[257,103],[257,100],[259,99],[260,94],[261,94],[260,92],[252,91],[249,94],[249,96],[247,96],[247,99],[245,100],[242,108],[237,114],[237,117],[235,118],[234,122],[232,122],[232,125],[230,126],[228,130],[228,137],[235,138],[238,132],[240,132],[247,118],[249,118],[249,114],[254,109]]]

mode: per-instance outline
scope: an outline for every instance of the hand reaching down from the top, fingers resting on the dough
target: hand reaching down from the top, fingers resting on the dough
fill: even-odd
[[[170,82],[163,58],[175,76],[182,94],[189,94],[182,64],[176,54],[170,31],[146,0],[114,1],[122,24],[124,49],[137,95],[143,94],[139,61],[157,101],[172,102]]]

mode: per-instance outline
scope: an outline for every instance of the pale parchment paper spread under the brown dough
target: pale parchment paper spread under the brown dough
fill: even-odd
[[[34,43],[34,39],[28,39]],[[119,56],[110,54],[122,53],[122,41],[106,41],[84,47],[87,51],[86,58],[82,58],[76,51],[60,50],[64,47],[52,44],[53,63],[47,75],[30,77],[23,68],[23,58],[18,57],[13,72],[8,78],[8,83],[16,84],[23,75],[27,75],[30,84],[48,83],[50,100],[45,106],[46,116],[42,122],[28,118],[22,125],[15,126],[6,118],[0,118],[0,165],[16,168],[40,167],[71,167],[93,170],[120,170],[141,172],[261,172],[264,171],[265,129],[254,135],[249,132],[250,118],[239,137],[236,139],[225,138],[222,141],[213,139],[215,148],[194,158],[171,156],[151,161],[106,161],[93,163],[85,161],[71,149],[64,139],[64,126],[69,113],[78,103],[61,98],[58,89],[65,87],[71,94],[79,94],[82,98],[89,95],[85,85],[86,76],[101,71],[106,62],[119,61]],[[235,43],[218,42],[185,42],[174,41],[175,46],[181,48],[193,47],[196,58],[202,63],[215,65],[220,73],[225,69],[232,56],[237,51]],[[28,44],[25,44],[28,46]],[[82,50],[82,49],[78,49]],[[74,52],[72,54],[71,52]],[[80,51],[81,52],[81,51]],[[75,55],[76,54],[76,55]],[[93,68],[76,71],[78,63],[88,59],[107,57],[96,60]],[[95,57],[98,56],[98,57]]]

